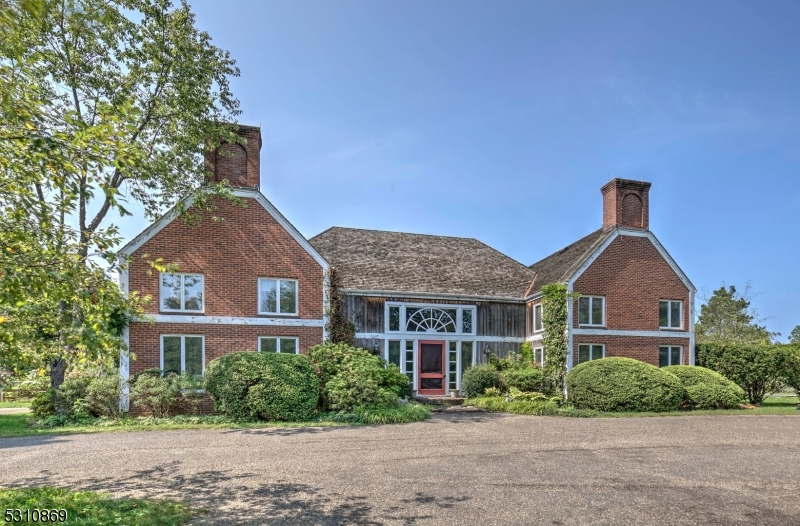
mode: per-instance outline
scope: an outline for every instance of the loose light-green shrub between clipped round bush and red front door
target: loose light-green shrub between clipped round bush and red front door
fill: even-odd
[[[322,407],[338,411],[396,407],[411,394],[408,377],[365,349],[344,343],[315,345],[308,351],[318,370]]]

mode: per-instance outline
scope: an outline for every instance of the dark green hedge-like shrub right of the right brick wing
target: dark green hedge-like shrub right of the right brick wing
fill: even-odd
[[[703,343],[696,351],[698,365],[736,383],[750,403],[760,404],[783,388],[786,353],[782,346]]]

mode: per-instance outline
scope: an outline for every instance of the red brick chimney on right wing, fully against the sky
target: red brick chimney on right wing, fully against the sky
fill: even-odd
[[[612,179],[602,188],[603,228],[615,226],[626,228],[650,227],[651,183]]]

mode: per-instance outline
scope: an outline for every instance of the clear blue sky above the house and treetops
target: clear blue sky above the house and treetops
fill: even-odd
[[[191,4],[306,236],[475,237],[530,264],[600,226],[609,177],[644,179],[701,293],[751,281],[771,330],[800,324],[800,3]]]

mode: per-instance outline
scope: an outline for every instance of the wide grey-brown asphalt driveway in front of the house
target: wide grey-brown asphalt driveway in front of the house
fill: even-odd
[[[438,415],[415,424],[0,439],[0,485],[172,497],[195,524],[800,524],[800,417]]]

